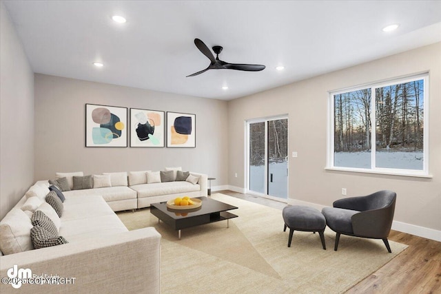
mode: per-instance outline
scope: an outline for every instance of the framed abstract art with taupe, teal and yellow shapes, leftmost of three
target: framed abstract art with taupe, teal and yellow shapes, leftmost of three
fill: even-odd
[[[86,103],[85,147],[127,147],[127,107]]]

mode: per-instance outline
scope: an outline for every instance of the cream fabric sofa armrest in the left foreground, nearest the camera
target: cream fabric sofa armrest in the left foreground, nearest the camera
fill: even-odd
[[[32,275],[58,275],[64,284],[22,284],[20,293],[159,293],[161,235],[153,227],[96,236],[0,257],[0,275],[17,264]],[[69,282],[68,282],[69,281]],[[1,293],[12,285],[0,285]]]

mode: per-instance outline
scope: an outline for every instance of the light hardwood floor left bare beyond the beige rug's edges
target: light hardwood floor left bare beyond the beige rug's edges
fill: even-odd
[[[280,210],[287,205],[233,191],[217,192]],[[441,242],[393,230],[389,240],[409,247],[347,293],[441,293]]]

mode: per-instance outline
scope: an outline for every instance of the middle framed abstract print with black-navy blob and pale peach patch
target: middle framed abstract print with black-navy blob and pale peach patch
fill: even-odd
[[[130,147],[165,147],[165,112],[130,108]]]

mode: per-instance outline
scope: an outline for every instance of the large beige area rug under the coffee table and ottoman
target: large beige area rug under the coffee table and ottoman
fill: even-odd
[[[342,293],[380,269],[407,248],[382,240],[325,230],[327,250],[318,233],[295,231],[287,247],[282,211],[220,193],[238,218],[177,231],[158,223],[150,209],[118,213],[130,229],[155,227],[161,233],[161,293]]]

